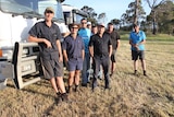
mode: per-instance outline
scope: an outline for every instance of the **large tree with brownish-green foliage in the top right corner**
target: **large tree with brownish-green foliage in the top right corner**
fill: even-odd
[[[150,14],[147,16],[147,21],[152,22],[152,34],[157,33],[157,27],[159,32],[170,33],[174,28],[173,20],[174,3],[172,0],[159,1],[159,3],[152,8]]]

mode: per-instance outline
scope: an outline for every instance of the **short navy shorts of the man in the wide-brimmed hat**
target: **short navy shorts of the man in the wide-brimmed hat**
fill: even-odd
[[[69,71],[83,70],[83,60],[69,60],[67,70]]]

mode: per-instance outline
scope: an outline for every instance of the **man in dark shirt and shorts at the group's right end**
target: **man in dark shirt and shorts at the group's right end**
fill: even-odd
[[[115,71],[115,62],[116,62],[116,50],[120,47],[120,34],[114,30],[114,26],[112,23],[108,23],[108,30],[107,33],[111,36],[111,43],[112,43],[112,55],[111,55],[111,74]]]

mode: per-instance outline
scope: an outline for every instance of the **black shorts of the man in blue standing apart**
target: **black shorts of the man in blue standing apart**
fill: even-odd
[[[140,60],[145,59],[145,51],[144,50],[132,50],[132,60]]]

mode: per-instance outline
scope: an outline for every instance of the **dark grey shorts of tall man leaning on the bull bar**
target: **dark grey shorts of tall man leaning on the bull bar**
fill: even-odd
[[[63,77],[63,62],[58,60],[41,60],[44,75],[46,79]]]

